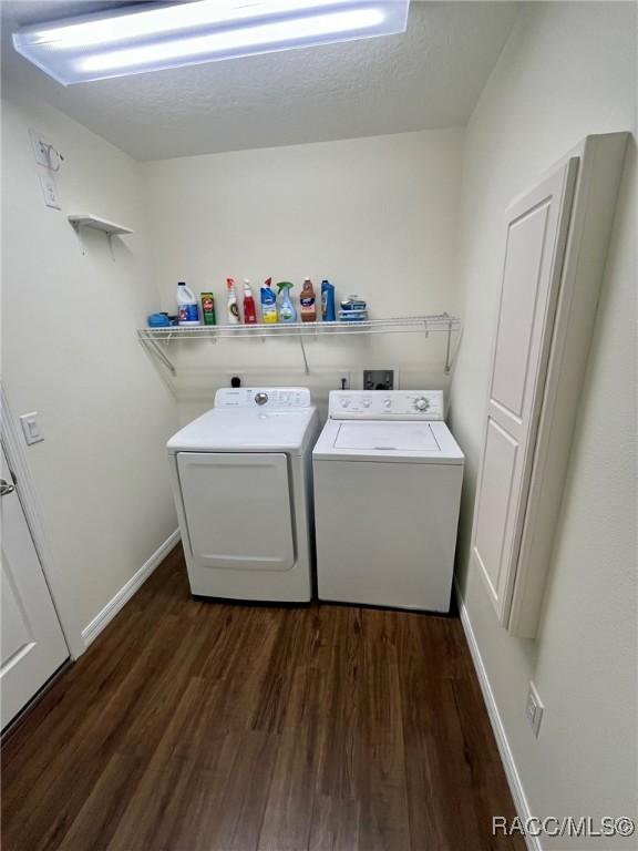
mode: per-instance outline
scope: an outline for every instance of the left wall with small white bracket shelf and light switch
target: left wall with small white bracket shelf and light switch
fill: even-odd
[[[2,104],[2,368],[14,414],[37,410],[27,449],[58,573],[83,628],[175,530],[164,443],[174,399],[135,337],[157,294],[137,164],[41,103]],[[29,127],[64,155],[63,209],[44,206]],[[86,234],[92,212],[135,234]]]

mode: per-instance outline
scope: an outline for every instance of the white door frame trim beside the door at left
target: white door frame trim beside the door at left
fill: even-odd
[[[42,512],[22,445],[22,431],[11,411],[2,382],[0,382],[0,428],[2,448],[4,449],[9,465],[18,480],[18,496],[33,540],[33,546],[40,560],[44,581],[49,586],[49,593],[51,594],[53,607],[58,614],[71,658],[76,659],[86,649],[82,639],[82,629],[72,605],[69,583],[56,567],[47,540],[42,523]]]

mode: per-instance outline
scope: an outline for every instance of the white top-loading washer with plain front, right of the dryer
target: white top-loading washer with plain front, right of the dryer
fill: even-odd
[[[443,393],[336,390],[312,452],[319,599],[447,612],[464,457]]]

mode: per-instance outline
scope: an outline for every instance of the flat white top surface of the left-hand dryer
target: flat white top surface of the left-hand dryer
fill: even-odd
[[[317,411],[214,408],[167,443],[169,452],[301,453],[315,434]]]

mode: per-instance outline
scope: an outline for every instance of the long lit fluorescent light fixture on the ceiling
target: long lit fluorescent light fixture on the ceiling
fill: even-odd
[[[69,85],[404,32],[410,0],[197,0],[25,27],[16,50]]]

